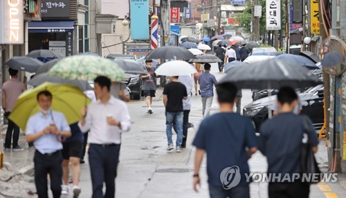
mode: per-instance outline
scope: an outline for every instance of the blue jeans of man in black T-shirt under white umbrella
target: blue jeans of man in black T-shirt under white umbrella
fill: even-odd
[[[166,115],[166,133],[168,145],[172,144],[172,123],[176,130],[176,146],[183,143],[183,112],[165,112]]]

